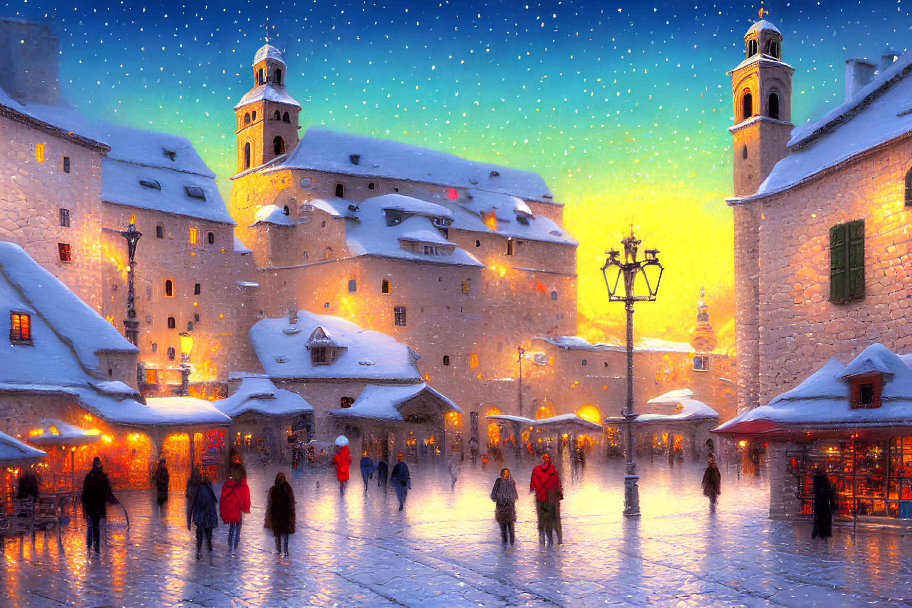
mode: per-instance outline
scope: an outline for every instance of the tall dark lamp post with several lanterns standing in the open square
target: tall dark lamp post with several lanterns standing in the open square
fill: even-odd
[[[630,226],[630,236],[621,239],[624,246],[624,261],[618,259],[620,252],[616,249],[607,251],[605,266],[602,274],[605,276],[605,286],[608,289],[609,302],[624,302],[627,311],[627,408],[623,412],[624,424],[627,425],[627,472],[624,476],[624,515],[627,517],[639,516],[639,487],[636,474],[637,463],[634,462],[633,453],[633,421],[637,414],[633,413],[633,304],[634,302],[651,302],[658,294],[658,283],[661,281],[664,268],[658,263],[658,249],[647,249],[646,258],[637,260],[637,247],[640,241],[633,234]],[[645,290],[640,287],[635,290],[637,275],[642,275]],[[617,288],[624,281],[624,290],[618,294]]]

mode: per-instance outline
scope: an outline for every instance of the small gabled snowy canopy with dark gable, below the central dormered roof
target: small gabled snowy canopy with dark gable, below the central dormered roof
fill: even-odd
[[[461,411],[459,405],[426,383],[405,386],[368,384],[351,407],[332,410],[329,414],[347,418],[407,422],[412,417],[421,418]]]

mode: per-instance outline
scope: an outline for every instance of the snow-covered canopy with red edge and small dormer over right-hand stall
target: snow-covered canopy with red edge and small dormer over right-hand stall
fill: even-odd
[[[851,379],[882,373],[881,406],[852,408]],[[760,435],[838,428],[912,426],[912,370],[883,344],[872,344],[844,366],[835,357],[791,391],[744,412],[715,429]]]

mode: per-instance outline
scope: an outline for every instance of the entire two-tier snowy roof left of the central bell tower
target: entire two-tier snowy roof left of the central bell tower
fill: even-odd
[[[101,200],[234,224],[215,173],[185,137],[98,125],[111,152],[101,161]]]

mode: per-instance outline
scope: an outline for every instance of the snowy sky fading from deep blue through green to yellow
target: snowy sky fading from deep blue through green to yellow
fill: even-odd
[[[687,341],[701,285],[731,319],[731,84],[757,5],[690,2],[0,3],[52,17],[67,99],[190,138],[234,173],[233,106],[254,52],[285,51],[301,124],[541,173],[579,247],[581,333],[619,323],[598,268],[631,222],[667,267],[637,333]],[[903,51],[907,0],[768,2],[795,68],[793,121],[843,100],[845,59]],[[615,337],[609,328],[607,337]]]

